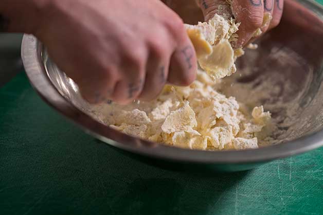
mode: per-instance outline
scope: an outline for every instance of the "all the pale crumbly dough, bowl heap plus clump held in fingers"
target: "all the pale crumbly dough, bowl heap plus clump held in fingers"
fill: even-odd
[[[217,92],[220,78],[236,71],[238,24],[215,15],[208,23],[187,25],[198,54],[198,78],[187,87],[166,85],[150,102],[93,107],[93,116],[129,135],[181,148],[244,150],[258,148],[270,132],[271,114],[262,106],[249,110],[234,97]],[[205,73],[205,71],[207,73]],[[99,113],[99,114],[98,114]]]

